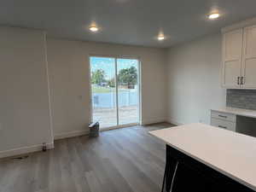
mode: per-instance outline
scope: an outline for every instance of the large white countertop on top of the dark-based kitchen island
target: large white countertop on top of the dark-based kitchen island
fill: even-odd
[[[255,137],[204,124],[181,125],[149,133],[183,154],[256,190]]]

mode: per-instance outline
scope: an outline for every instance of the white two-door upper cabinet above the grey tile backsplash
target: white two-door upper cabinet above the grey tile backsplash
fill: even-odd
[[[256,25],[252,23],[256,18],[222,29],[225,88],[256,89]]]

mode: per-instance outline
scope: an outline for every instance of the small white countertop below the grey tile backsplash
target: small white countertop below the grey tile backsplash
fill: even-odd
[[[241,115],[245,117],[256,118],[256,111],[242,109],[242,108],[218,108],[218,109],[212,109],[212,111],[218,111],[223,113],[230,113],[230,114],[236,114],[236,115]]]

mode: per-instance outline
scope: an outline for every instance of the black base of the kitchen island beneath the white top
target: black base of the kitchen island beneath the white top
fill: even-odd
[[[239,166],[239,165],[237,165]],[[242,167],[241,167],[242,169]],[[255,173],[256,177],[256,173]],[[241,183],[166,145],[162,192],[252,192]]]

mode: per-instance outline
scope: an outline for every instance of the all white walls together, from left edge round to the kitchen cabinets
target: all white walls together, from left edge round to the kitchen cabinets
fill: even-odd
[[[143,124],[209,123],[210,108],[225,104],[220,34],[166,50],[45,41],[38,30],[1,27],[0,42],[0,157],[53,147],[51,123],[58,138],[88,131],[89,55],[140,58]]]

